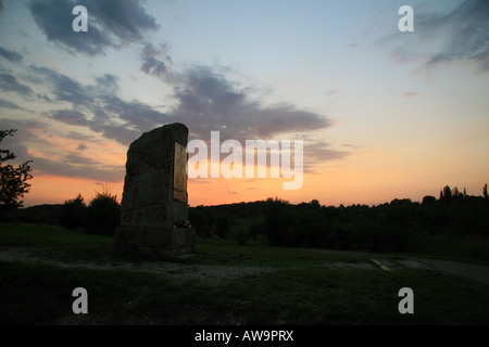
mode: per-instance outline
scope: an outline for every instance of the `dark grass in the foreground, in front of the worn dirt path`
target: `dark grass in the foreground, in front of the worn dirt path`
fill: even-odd
[[[487,286],[403,270],[280,270],[218,286],[126,271],[0,262],[0,324],[489,324]],[[88,291],[88,314],[72,292]],[[398,292],[414,291],[414,314]]]

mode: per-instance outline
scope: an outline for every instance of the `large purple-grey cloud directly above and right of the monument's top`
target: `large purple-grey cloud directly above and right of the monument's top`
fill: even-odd
[[[175,97],[179,103],[170,112],[171,118],[188,124],[201,139],[209,139],[212,130],[241,141],[330,126],[326,117],[291,104],[266,106],[250,100],[246,89],[203,66],[186,72],[175,87]]]

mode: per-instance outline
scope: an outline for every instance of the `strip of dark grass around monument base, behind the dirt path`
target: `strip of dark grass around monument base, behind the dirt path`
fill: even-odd
[[[196,257],[135,257],[121,255],[114,240],[86,234],[59,226],[0,224],[0,247],[20,247],[41,258],[59,261],[172,261],[196,265],[291,266],[310,265],[324,260],[358,261],[362,255],[308,254],[299,249],[268,247],[262,244],[238,245],[234,241],[198,237]]]

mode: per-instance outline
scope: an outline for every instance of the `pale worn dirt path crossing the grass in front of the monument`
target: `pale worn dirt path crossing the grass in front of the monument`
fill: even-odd
[[[399,269],[424,269],[440,271],[453,275],[459,275],[475,280],[477,282],[489,285],[489,267],[466,262],[426,259],[426,258],[402,258],[397,259],[396,262],[385,259],[385,255],[374,253],[360,253],[349,250],[328,250],[316,248],[303,248],[304,252],[323,253],[323,254],[351,254],[351,255],[367,255],[369,261],[343,262],[343,261],[323,261],[314,266],[299,266],[299,267],[280,267],[280,266],[227,266],[227,265],[185,265],[170,261],[141,261],[138,264],[124,261],[72,261],[61,262],[49,259],[47,257],[39,257],[33,254],[27,247],[13,247],[0,249],[0,260],[15,261],[23,264],[38,264],[57,266],[61,268],[77,268],[77,269],[95,269],[95,270],[124,270],[149,272],[155,274],[164,274],[165,277],[176,281],[185,282],[187,280],[199,280],[205,284],[217,285],[223,282],[230,281],[236,278],[260,274],[284,269],[303,269],[303,268],[326,268],[326,269],[367,269],[367,270],[384,270],[397,271]]]

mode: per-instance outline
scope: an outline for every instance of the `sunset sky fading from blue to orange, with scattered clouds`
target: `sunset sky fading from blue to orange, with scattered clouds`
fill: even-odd
[[[300,189],[189,178],[190,206],[481,195],[488,100],[488,0],[0,0],[1,147],[33,160],[25,206],[121,201],[128,145],[175,121],[303,142]]]

